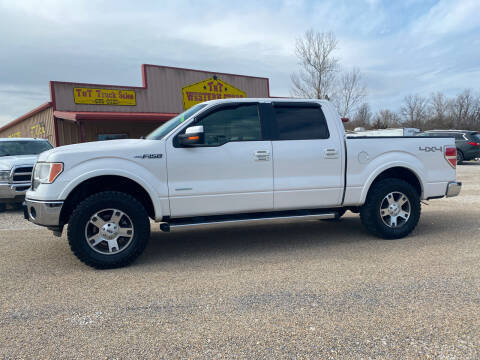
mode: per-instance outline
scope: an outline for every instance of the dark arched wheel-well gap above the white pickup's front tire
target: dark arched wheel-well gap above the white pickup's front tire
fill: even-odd
[[[69,192],[62,206],[60,223],[67,224],[76,205],[102,191],[120,191],[129,194],[144,206],[150,218],[158,217],[150,193],[141,184],[122,175],[98,175],[84,179]]]

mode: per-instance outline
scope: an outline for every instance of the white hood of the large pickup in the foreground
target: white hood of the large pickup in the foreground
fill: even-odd
[[[131,157],[141,155],[142,151],[151,149],[151,142],[157,140],[124,139],[94,141],[82,144],[59,146],[40,154],[38,161],[64,162],[74,164],[97,157]],[[162,149],[159,146],[159,150]]]

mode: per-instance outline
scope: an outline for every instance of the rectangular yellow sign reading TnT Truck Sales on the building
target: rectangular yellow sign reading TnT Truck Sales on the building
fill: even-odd
[[[73,88],[75,104],[136,105],[135,90]]]

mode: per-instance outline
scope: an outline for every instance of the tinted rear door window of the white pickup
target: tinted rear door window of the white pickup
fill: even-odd
[[[278,140],[328,139],[327,122],[320,107],[275,104]]]

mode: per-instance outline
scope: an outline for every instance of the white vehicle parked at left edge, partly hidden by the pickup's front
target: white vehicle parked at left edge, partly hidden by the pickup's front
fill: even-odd
[[[0,138],[0,211],[24,201],[38,154],[51,148],[45,139]]]

